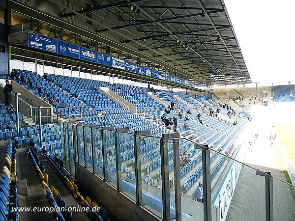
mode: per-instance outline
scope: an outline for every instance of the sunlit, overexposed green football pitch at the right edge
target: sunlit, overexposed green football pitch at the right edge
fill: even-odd
[[[295,124],[275,125],[275,131],[295,165]]]

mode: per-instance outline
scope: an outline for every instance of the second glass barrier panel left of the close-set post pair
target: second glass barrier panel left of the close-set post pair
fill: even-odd
[[[121,166],[121,191],[136,200],[134,135],[117,132],[117,151]]]

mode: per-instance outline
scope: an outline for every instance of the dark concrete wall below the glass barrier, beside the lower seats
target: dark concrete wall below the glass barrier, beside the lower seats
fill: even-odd
[[[88,169],[76,163],[76,179],[93,195],[99,197],[104,207],[121,221],[159,221],[160,219],[126,198],[112,186],[104,183]]]

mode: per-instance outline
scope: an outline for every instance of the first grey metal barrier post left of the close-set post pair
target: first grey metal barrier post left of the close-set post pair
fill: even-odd
[[[149,135],[150,131],[135,131],[134,135],[134,160],[135,160],[135,186],[136,186],[136,204],[143,205],[143,188],[142,188],[142,170],[141,170],[141,152],[140,152],[140,135]]]

